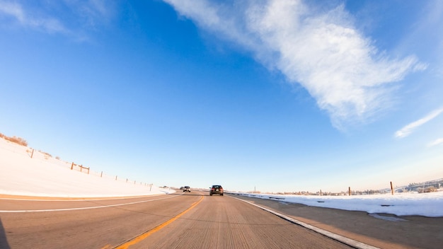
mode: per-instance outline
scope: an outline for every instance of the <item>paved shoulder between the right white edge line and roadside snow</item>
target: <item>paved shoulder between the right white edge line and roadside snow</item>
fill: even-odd
[[[443,242],[443,218],[423,216],[393,216],[378,214],[379,219],[366,212],[350,212],[340,209],[309,207],[304,204],[277,200],[241,197],[239,199],[258,204],[285,214],[293,219],[352,240],[378,248],[440,248]]]

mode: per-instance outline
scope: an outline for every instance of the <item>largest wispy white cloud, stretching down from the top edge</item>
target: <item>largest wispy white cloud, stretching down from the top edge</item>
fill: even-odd
[[[253,52],[290,83],[301,84],[338,128],[386,108],[391,83],[426,67],[413,55],[391,58],[379,52],[343,5],[325,11],[301,0],[163,1],[201,28]]]

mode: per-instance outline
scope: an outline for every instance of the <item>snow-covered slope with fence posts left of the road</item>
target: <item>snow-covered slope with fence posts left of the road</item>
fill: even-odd
[[[175,192],[149,183],[80,172],[78,166],[0,138],[0,195],[122,197]],[[31,155],[33,158],[31,158]]]

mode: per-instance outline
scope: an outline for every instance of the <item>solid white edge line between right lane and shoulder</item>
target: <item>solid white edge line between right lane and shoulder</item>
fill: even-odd
[[[236,198],[236,197],[231,197],[231,198],[238,199],[238,198]],[[318,227],[316,227],[316,226],[311,226],[311,225],[306,224],[306,223],[304,223],[304,222],[302,222],[302,221],[299,221],[299,220],[297,220],[297,219],[293,219],[293,218],[291,218],[291,217],[289,217],[289,216],[286,216],[286,215],[284,215],[284,214],[280,214],[279,212],[275,212],[275,211],[272,210],[272,209],[267,209],[267,208],[262,207],[262,206],[260,206],[260,205],[258,205],[258,204],[253,204],[252,202],[248,202],[248,201],[246,201],[246,200],[244,200],[244,199],[239,199],[239,200],[241,200],[242,202],[246,202],[246,203],[248,203],[248,204],[251,204],[251,205],[253,205],[253,206],[255,206],[255,207],[258,207],[258,208],[260,208],[260,209],[263,209],[263,210],[265,210],[265,211],[267,211],[267,212],[270,212],[271,214],[275,214],[275,215],[277,215],[277,216],[280,216],[282,219],[285,219],[285,220],[287,220],[287,221],[291,221],[291,222],[294,223],[294,224],[298,224],[298,225],[300,225],[300,226],[304,226],[305,228],[308,228],[309,230],[312,230],[312,231],[315,231],[315,232],[317,232],[317,233],[320,233],[320,234],[322,234],[323,236],[326,236],[326,237],[328,237],[328,238],[332,238],[332,239],[334,239],[335,241],[340,241],[341,243],[344,243],[344,244],[346,244],[346,245],[350,245],[350,246],[352,246],[352,247],[354,247],[354,248],[359,248],[359,249],[380,249],[380,248],[377,248],[377,247],[372,246],[372,245],[367,245],[367,244],[365,244],[365,243],[362,243],[362,242],[359,242],[359,241],[355,241],[355,240],[353,240],[353,239],[351,239],[351,238],[346,238],[345,236],[340,236],[340,235],[338,235],[338,234],[331,233],[330,231],[323,230],[323,229],[318,228]]]

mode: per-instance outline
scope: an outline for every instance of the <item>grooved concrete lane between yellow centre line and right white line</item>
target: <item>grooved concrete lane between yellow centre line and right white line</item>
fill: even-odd
[[[189,196],[189,195],[186,195]],[[351,248],[229,196],[205,196],[146,238],[116,248]]]

